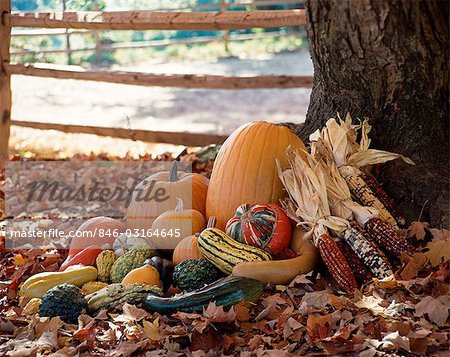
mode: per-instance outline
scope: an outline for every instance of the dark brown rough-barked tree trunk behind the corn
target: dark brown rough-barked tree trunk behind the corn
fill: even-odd
[[[372,146],[409,156],[378,178],[406,217],[449,225],[447,1],[307,0],[314,87],[300,136],[347,111]]]

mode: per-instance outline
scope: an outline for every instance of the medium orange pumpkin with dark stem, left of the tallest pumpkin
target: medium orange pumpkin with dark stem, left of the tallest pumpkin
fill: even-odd
[[[209,180],[203,175],[178,171],[178,162],[174,161],[170,171],[155,173],[136,186],[127,209],[128,228],[150,229],[156,217],[177,205],[177,198],[183,200],[184,207],[199,211],[204,216],[208,183]],[[163,196],[167,199],[159,202],[137,199],[139,192],[145,194],[150,189],[152,193],[164,190]]]

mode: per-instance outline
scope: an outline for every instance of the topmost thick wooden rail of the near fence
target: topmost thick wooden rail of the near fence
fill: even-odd
[[[7,26],[88,30],[242,30],[304,26],[304,10],[4,14]]]

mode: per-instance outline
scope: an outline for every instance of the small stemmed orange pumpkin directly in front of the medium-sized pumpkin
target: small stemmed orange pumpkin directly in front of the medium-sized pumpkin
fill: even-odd
[[[184,209],[183,200],[178,198],[174,210],[164,212],[153,221],[151,240],[157,249],[175,249],[184,237],[201,232],[205,225],[203,215],[194,209]]]

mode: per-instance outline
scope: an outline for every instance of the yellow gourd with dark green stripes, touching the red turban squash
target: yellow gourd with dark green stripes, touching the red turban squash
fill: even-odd
[[[218,228],[206,228],[198,237],[198,250],[225,274],[242,262],[271,260],[269,253],[262,249],[236,242]]]

